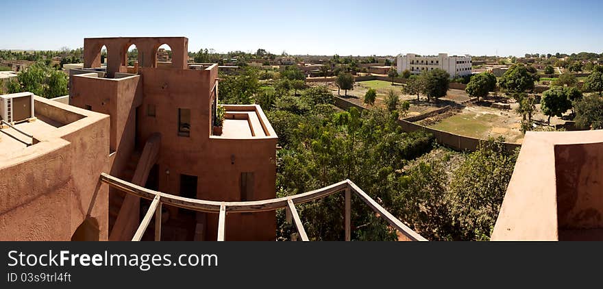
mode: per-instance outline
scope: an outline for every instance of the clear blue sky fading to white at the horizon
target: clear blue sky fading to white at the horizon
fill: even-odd
[[[603,52],[603,1],[3,1],[0,49],[186,36],[188,50],[396,55]]]

